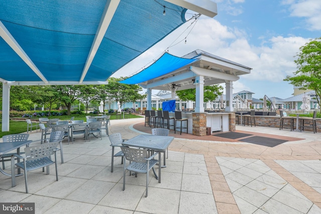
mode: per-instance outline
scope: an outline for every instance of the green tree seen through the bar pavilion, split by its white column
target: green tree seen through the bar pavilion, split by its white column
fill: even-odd
[[[222,90],[223,87],[220,85],[204,86],[204,103],[216,100],[218,96],[222,95]],[[183,101],[196,101],[195,88],[177,91],[176,95]]]

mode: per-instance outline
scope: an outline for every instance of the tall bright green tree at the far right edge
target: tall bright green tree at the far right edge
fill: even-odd
[[[293,72],[295,76],[286,76],[284,81],[303,90],[314,90],[316,101],[321,106],[321,37],[310,40],[299,50],[295,55],[297,59],[294,60],[297,68]]]

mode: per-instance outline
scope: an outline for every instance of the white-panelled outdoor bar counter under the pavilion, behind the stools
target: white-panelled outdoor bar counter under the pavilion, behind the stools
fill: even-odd
[[[234,114],[233,112],[205,112],[205,113],[206,113],[206,127],[211,127],[211,132],[229,131],[229,114]],[[170,116],[175,117],[175,113],[170,112]],[[183,111],[182,117],[188,118],[188,123],[189,123],[188,133],[193,134],[192,112]],[[170,122],[170,124],[174,125],[173,120]],[[177,126],[180,126],[180,122],[178,122]],[[186,127],[186,121],[183,121],[183,127]],[[183,130],[183,132],[184,131],[186,130]]]

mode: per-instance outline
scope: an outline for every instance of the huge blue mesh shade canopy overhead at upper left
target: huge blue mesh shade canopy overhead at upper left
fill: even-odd
[[[185,8],[163,0],[4,0],[0,8],[0,81],[26,85],[105,83],[186,22]]]

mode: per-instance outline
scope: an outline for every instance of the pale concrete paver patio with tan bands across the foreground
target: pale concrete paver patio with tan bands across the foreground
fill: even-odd
[[[109,133],[132,138],[150,130],[143,121],[112,120]],[[105,133],[102,140],[90,142],[78,135],[73,144],[63,141],[65,163],[57,153],[59,181],[53,165],[50,175],[41,169],[28,172],[27,194],[23,176],[11,187],[11,178],[0,174],[0,201],[36,202],[36,213],[321,213],[320,133],[248,126],[237,126],[237,131],[302,139],[266,147],[174,135],[171,130],[175,140],[162,183],[151,173],[145,197],[145,175],[127,173],[122,191],[121,158],[114,159],[110,172]],[[39,132],[30,135],[32,140],[40,138]],[[10,169],[10,162],[6,166]]]

